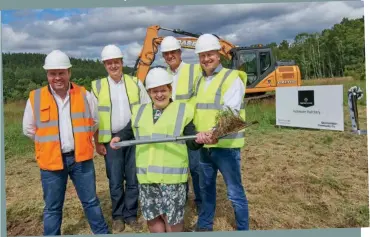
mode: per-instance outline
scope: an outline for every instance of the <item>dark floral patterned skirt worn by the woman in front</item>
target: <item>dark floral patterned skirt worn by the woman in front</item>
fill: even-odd
[[[145,220],[165,214],[168,224],[176,225],[184,219],[186,183],[140,184],[139,200]]]

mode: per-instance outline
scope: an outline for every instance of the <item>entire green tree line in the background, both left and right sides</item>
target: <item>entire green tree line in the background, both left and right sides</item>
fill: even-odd
[[[251,45],[253,46],[253,45]],[[364,17],[343,18],[322,32],[296,35],[294,42],[269,43],[275,60],[295,60],[303,79],[352,76],[365,80]],[[24,100],[31,90],[46,85],[44,54],[3,53],[4,102]],[[106,76],[98,60],[71,58],[72,81],[90,90],[91,80]],[[133,68],[125,67],[131,73]]]

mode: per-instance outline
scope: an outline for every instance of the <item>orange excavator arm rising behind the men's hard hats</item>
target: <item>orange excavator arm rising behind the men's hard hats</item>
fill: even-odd
[[[155,56],[158,53],[158,47],[163,40],[163,36],[159,36],[159,30],[166,30],[173,32],[175,34],[185,35],[187,37],[176,37],[180,41],[181,48],[185,49],[195,49],[195,43],[198,37],[201,34],[194,34],[190,32],[186,32],[183,30],[175,30],[175,29],[168,29],[162,28],[159,25],[149,26],[146,31],[146,36],[144,39],[143,47],[139,56],[136,60],[133,75],[136,73],[136,77],[140,79],[142,82],[145,80],[145,77],[150,69],[150,66],[155,60]],[[231,49],[235,48],[235,46],[223,39],[220,39],[221,43],[221,50],[220,53],[226,57],[227,59],[231,59],[230,51]]]

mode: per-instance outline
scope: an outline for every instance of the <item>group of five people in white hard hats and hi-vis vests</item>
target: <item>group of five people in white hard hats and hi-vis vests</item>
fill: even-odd
[[[91,231],[111,233],[96,193],[95,150],[105,160],[114,233],[126,226],[142,230],[139,206],[151,233],[184,231],[189,170],[198,214],[194,231],[213,230],[218,171],[236,229],[249,229],[240,169],[245,134],[217,138],[212,133],[214,118],[225,107],[245,117],[246,74],[222,67],[220,42],[211,34],[196,42],[199,64],[182,60],[181,45],[172,36],[162,40],[160,49],[167,70],[152,68],[142,83],[123,72],[122,51],[105,46],[101,60],[108,76],[94,80],[90,92],[70,82],[72,65],[64,52],[53,50],[46,56],[48,85],[30,92],[23,118],[23,132],[35,143],[41,173],[44,235],[61,234],[68,177]],[[196,139],[116,144],[187,135]]]

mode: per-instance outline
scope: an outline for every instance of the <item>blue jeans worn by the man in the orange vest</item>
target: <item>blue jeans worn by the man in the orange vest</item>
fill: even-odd
[[[44,235],[61,235],[64,197],[68,176],[75,186],[85,216],[94,234],[108,234],[99,199],[96,195],[93,160],[75,162],[74,155],[63,156],[64,169],[41,172],[44,195]]]

